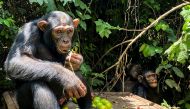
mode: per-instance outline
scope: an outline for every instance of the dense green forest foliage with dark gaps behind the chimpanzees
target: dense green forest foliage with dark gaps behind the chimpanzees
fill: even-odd
[[[115,91],[127,66],[140,64],[159,75],[159,91],[171,94],[163,105],[190,108],[185,0],[0,0],[0,93],[13,88],[3,63],[17,31],[52,10],[80,18],[72,49],[84,56],[81,70],[95,91]]]

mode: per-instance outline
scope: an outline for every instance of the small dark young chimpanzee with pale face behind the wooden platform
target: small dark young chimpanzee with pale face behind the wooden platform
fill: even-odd
[[[143,71],[138,75],[138,83],[133,88],[133,93],[156,103],[161,102],[157,93],[157,74],[152,70]]]

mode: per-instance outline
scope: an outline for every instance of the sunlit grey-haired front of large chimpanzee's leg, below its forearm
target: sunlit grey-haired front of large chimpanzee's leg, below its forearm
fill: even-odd
[[[34,109],[60,109],[57,98],[45,83],[32,85]]]

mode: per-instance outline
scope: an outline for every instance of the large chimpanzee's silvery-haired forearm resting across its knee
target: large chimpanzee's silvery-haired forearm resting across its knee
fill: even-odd
[[[63,86],[67,86],[67,81],[77,83],[75,74],[58,63],[32,59],[27,55],[13,57],[6,66],[8,75],[12,79],[25,81],[31,80],[57,80]]]

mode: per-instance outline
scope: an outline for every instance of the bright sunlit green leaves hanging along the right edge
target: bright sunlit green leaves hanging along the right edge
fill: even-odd
[[[189,50],[190,50],[190,35],[189,35],[189,25],[190,25],[190,8],[186,6],[183,8],[182,12],[180,13],[184,18],[184,25],[183,25],[183,34],[180,39],[174,42],[166,51],[165,53],[168,55],[168,59],[172,61],[178,61],[182,64],[185,64],[189,58]],[[188,15],[189,14],[189,15]]]

